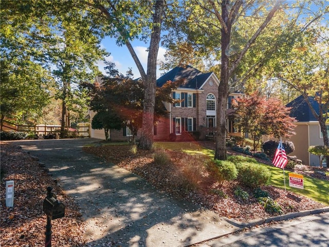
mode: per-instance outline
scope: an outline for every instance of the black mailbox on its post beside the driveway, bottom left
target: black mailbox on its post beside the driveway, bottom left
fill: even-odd
[[[51,187],[47,187],[47,197],[43,201],[43,211],[47,215],[45,247],[51,247],[51,220],[63,218],[65,214],[64,204],[57,201],[51,190]]]

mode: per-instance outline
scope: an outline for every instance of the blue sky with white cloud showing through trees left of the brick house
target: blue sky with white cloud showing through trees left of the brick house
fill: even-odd
[[[108,52],[111,53],[111,56],[107,57],[107,61],[113,62],[116,65],[116,69],[119,70],[120,73],[123,75],[126,74],[126,71],[129,69],[129,67],[132,68],[134,78],[140,77],[140,73],[138,71],[138,68],[130,55],[129,50],[125,45],[123,46],[118,46],[116,44],[116,39],[106,37],[105,39],[102,40],[101,42],[102,48],[105,48]],[[141,64],[144,67],[144,70],[146,72],[147,70],[147,61],[148,61],[148,44],[145,44],[142,41],[136,40],[132,42],[132,46],[134,47],[134,50],[137,54],[137,57],[139,58]],[[164,61],[165,57],[165,52],[166,49],[163,47],[159,47],[159,52],[158,52],[158,60]],[[105,74],[104,70],[104,62],[99,61],[97,63],[99,69],[103,74]],[[160,76],[160,70],[157,69],[157,78]]]

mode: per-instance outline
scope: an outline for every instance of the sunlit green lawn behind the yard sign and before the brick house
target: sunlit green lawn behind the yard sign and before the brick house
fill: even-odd
[[[170,149],[173,151],[182,151],[189,154],[206,154],[210,157],[214,156],[214,151],[204,148],[197,143],[172,143],[172,142],[156,142],[156,147]],[[271,179],[269,184],[284,189],[283,170],[274,166],[263,164],[271,171]],[[308,198],[312,198],[317,202],[329,205],[329,182],[316,178],[304,176],[304,189],[289,187],[289,171],[285,171],[286,190],[293,191]]]

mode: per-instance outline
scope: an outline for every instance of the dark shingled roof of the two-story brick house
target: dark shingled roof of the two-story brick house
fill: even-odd
[[[156,80],[156,85],[161,87],[167,81],[177,81],[183,79],[185,83],[182,83],[179,87],[186,89],[199,89],[210,77],[212,72],[202,73],[200,70],[193,68],[192,66],[175,67],[165,75]]]

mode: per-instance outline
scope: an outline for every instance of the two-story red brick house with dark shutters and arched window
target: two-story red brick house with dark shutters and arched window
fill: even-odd
[[[99,80],[100,78],[96,78]],[[175,67],[165,75],[157,79],[157,87],[161,87],[167,81],[182,80],[182,83],[172,92],[173,99],[178,103],[164,102],[169,112],[167,118],[159,118],[154,126],[154,140],[185,139],[187,136],[205,139],[213,138],[216,127],[218,85],[220,81],[212,72],[202,73],[191,67]],[[228,98],[228,135],[241,136],[241,132],[234,126],[231,100],[242,93],[232,93]],[[95,113],[90,113],[91,118]],[[188,134],[187,134],[188,133]],[[111,130],[111,140],[129,139],[129,129],[122,131]],[[140,134],[140,133],[139,133]],[[91,130],[90,135],[95,138],[105,139],[104,130]],[[138,136],[137,136],[138,139]]]

